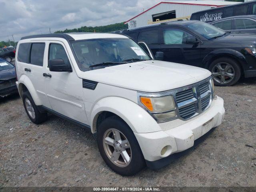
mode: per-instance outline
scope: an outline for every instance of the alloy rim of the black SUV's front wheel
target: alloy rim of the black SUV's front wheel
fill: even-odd
[[[229,83],[234,79],[234,76],[235,70],[229,63],[220,62],[212,68],[212,77],[218,83]]]

